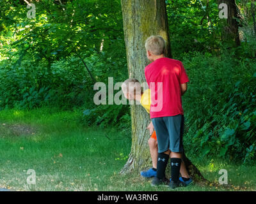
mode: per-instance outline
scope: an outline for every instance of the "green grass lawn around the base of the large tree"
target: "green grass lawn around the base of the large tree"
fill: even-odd
[[[16,191],[169,191],[152,187],[138,173],[120,175],[131,148],[129,133],[114,128],[88,128],[78,111],[49,108],[0,112],[0,188]],[[108,134],[108,138],[106,137]],[[110,140],[109,140],[110,139]],[[189,155],[206,179],[218,182],[228,171],[233,189],[256,189],[256,166]],[[36,171],[36,185],[27,184],[27,171]],[[193,184],[177,191],[224,191]],[[239,188],[238,188],[239,190]]]

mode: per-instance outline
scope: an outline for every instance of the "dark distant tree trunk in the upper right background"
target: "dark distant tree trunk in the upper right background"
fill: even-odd
[[[236,0],[218,0],[219,4],[225,3],[228,8],[228,18],[221,19],[222,32],[221,38],[223,43],[228,47],[238,47],[241,45],[239,38],[238,22],[237,22],[237,5]]]

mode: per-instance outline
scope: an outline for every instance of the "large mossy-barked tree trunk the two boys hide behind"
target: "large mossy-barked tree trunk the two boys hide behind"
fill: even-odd
[[[151,35],[161,35],[168,47],[166,56],[172,57],[170,37],[168,34],[168,20],[164,0],[122,0],[122,13],[124,19],[124,38],[127,52],[129,77],[145,82],[145,66],[148,65],[145,40]],[[132,170],[140,171],[152,166],[148,149],[146,129],[150,120],[148,113],[142,106],[131,105],[132,119],[132,147],[129,159],[120,173]],[[183,155],[183,161],[195,180],[202,180],[200,171]]]

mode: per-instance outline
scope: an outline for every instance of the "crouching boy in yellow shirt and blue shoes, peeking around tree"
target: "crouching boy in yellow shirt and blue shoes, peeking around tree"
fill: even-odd
[[[148,113],[150,113],[150,89],[147,89],[144,92],[141,91],[140,82],[136,78],[129,78],[125,80],[122,84],[122,91],[124,92],[125,98],[127,98],[128,100],[139,101],[143,108],[145,108],[145,110]],[[152,159],[153,167],[147,171],[141,171],[141,176],[148,178],[156,177],[158,148],[156,131],[154,131],[154,126],[152,122],[150,122],[147,129],[149,130],[149,133],[151,135],[150,138],[148,139],[148,146],[150,150],[150,156]],[[184,182],[185,180],[186,186],[192,182],[192,180],[189,179],[188,171],[186,170],[186,167],[183,162],[181,163],[180,166],[180,173],[182,175],[182,177],[180,177],[180,181]],[[187,182],[187,179],[189,179],[189,182]]]

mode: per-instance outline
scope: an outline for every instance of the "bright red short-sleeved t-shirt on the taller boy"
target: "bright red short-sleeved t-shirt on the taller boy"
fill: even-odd
[[[146,66],[145,77],[151,91],[151,119],[184,115],[180,84],[189,82],[189,79],[182,62],[159,58]]]

